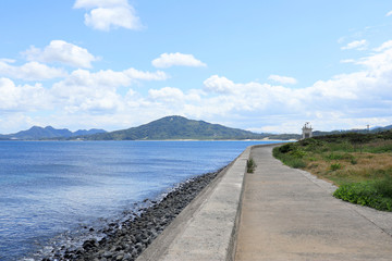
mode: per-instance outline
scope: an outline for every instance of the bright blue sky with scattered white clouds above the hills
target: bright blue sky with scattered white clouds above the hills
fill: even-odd
[[[5,0],[0,133],[392,124],[390,0]]]

